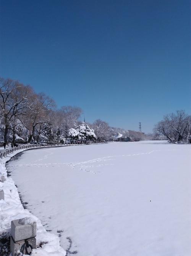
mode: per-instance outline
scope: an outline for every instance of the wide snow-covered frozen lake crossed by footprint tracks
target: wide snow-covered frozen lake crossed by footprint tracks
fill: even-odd
[[[7,168],[67,255],[190,256],[190,156],[191,145],[113,142],[29,150]]]

